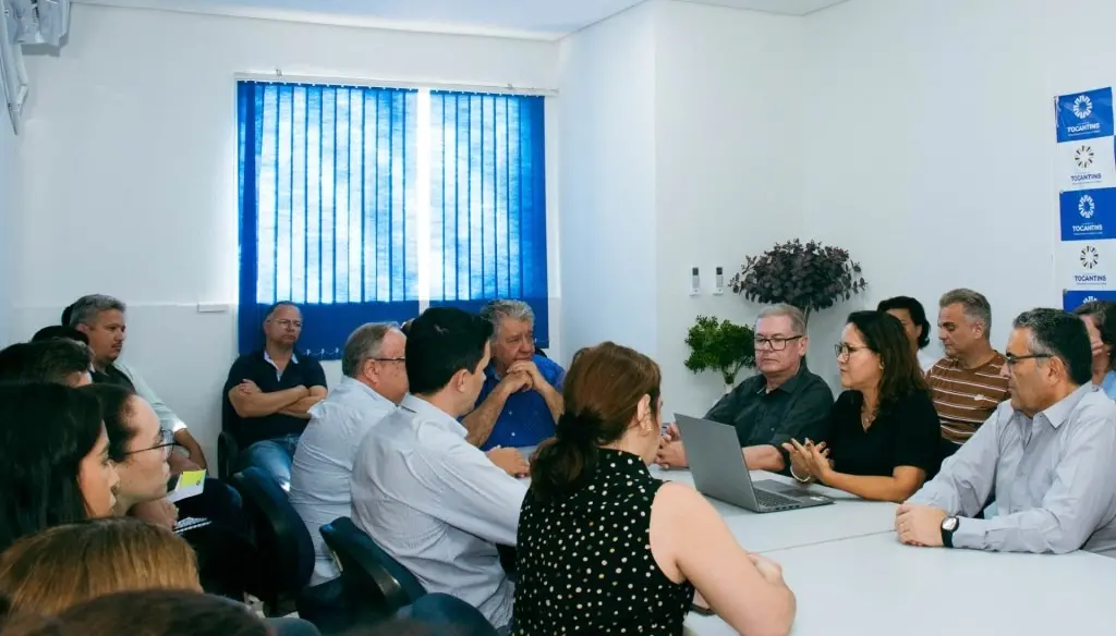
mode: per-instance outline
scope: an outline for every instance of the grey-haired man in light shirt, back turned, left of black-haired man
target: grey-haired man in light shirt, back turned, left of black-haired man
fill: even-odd
[[[393,325],[358,327],[345,343],[340,385],[310,407],[290,473],[290,503],[314,540],[310,585],[340,576],[319,529],[353,508],[349,480],[365,434],[407,393],[406,337]]]

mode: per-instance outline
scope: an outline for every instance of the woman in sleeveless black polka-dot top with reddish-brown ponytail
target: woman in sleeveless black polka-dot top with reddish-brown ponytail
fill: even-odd
[[[693,489],[647,471],[660,379],[651,358],[613,343],[574,357],[519,518],[517,636],[679,635],[694,588],[741,634],[790,630],[779,566],[742,550]]]

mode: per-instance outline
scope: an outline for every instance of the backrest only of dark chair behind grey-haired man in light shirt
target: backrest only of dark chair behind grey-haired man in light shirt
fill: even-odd
[[[314,571],[314,542],[287,493],[262,470],[249,466],[232,475],[252,520],[261,572],[280,592],[297,592]]]

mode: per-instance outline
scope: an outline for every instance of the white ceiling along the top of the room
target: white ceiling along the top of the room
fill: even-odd
[[[644,0],[74,0],[413,30],[557,38]],[[845,0],[682,0],[805,16]]]

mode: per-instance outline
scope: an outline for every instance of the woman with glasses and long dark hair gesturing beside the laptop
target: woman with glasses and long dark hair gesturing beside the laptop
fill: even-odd
[[[882,311],[854,311],[836,346],[840,383],[828,445],[791,440],[791,475],[864,499],[902,503],[940,464],[941,428],[903,325]]]

